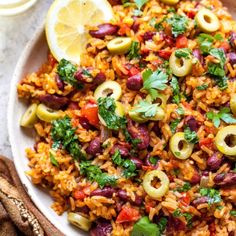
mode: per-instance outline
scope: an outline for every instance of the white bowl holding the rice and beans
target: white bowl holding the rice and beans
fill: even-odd
[[[236,2],[232,0],[223,1],[228,6],[230,12],[236,17]],[[57,227],[62,233],[69,236],[87,235],[86,233],[71,226],[66,219],[66,215],[58,216],[51,208],[52,199],[43,190],[33,185],[30,179],[25,175],[29,170],[28,160],[25,155],[27,147],[33,147],[34,134],[31,130],[26,132],[20,128],[19,121],[21,115],[26,110],[25,104],[19,101],[17,97],[17,83],[27,74],[36,71],[43,62],[46,61],[48,46],[45,39],[43,28],[41,28],[35,37],[28,43],[23,51],[11,82],[10,100],[8,104],[8,131],[14,163],[22,183],[26,186],[28,193],[35,205],[41,212]]]

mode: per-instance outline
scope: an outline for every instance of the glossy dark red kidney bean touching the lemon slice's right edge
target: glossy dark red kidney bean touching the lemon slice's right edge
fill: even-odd
[[[114,35],[117,33],[119,27],[109,23],[101,24],[98,26],[98,30],[90,30],[89,34],[94,38],[103,39],[106,35]]]

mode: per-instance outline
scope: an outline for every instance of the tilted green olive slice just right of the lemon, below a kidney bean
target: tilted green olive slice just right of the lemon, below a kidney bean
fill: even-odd
[[[132,44],[131,38],[118,37],[118,38],[112,39],[107,44],[107,48],[110,51],[110,53],[125,54],[129,51],[131,44]]]

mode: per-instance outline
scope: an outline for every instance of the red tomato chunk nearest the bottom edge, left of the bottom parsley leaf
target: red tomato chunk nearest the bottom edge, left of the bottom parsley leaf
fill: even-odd
[[[137,221],[141,217],[139,211],[132,207],[124,207],[116,218],[116,223]]]

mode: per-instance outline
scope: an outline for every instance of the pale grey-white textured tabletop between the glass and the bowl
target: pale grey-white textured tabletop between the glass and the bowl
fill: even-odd
[[[14,17],[0,17],[0,154],[12,156],[7,132],[7,103],[12,74],[20,54],[43,24],[53,0],[38,0],[31,9]]]

